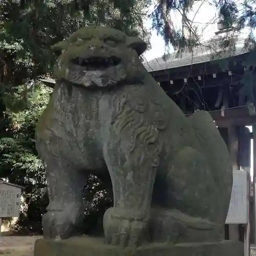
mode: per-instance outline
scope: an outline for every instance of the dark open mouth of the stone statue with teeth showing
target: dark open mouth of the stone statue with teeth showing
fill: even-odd
[[[84,67],[87,70],[96,70],[96,69],[106,69],[113,66],[117,66],[120,63],[121,59],[116,56],[110,57],[90,57],[90,58],[82,58],[76,57],[72,60],[72,62],[80,67]]]

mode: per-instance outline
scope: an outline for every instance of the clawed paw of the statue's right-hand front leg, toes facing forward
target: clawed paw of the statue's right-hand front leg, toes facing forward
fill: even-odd
[[[106,243],[121,247],[137,247],[145,240],[148,218],[146,212],[109,208],[104,215]]]

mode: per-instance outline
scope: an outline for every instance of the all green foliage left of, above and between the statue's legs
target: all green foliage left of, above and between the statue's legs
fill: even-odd
[[[151,0],[0,0],[0,178],[25,186],[18,229],[40,232],[48,204],[34,133],[51,93],[37,82],[51,76],[56,59],[51,46],[87,25],[111,26],[148,42],[143,20],[150,4]],[[84,200],[90,202],[86,216],[93,222],[102,217],[112,197],[95,177],[90,177],[85,191]]]

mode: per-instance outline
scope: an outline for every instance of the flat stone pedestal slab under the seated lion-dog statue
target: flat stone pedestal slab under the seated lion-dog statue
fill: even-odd
[[[119,248],[104,244],[103,239],[74,237],[68,240],[35,242],[34,256],[244,256],[243,243],[152,243],[138,248]]]

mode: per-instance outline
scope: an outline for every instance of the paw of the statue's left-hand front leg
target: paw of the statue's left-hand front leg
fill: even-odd
[[[79,206],[64,210],[49,210],[42,217],[42,230],[45,239],[68,239],[83,220],[84,212]]]

